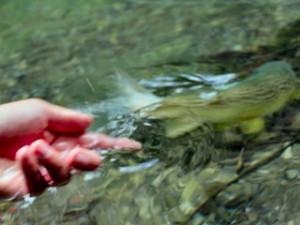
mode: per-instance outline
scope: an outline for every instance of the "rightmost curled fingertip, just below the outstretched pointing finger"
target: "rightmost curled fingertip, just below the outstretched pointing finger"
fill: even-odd
[[[100,156],[88,149],[76,147],[66,157],[67,164],[75,169],[89,171],[101,164]]]

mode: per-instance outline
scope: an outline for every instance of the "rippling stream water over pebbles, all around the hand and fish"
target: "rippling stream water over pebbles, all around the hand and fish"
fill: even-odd
[[[300,223],[300,148],[291,144],[298,102],[268,117],[257,137],[220,134],[208,124],[174,140],[163,137],[159,121],[119,116],[125,111],[106,100],[116,69],[159,96],[214,86],[195,74],[227,74],[231,84],[231,73],[243,79],[278,59],[299,77],[297,1],[25,0],[5,1],[0,12],[1,102],[42,97],[95,114],[93,130],[145,144],[139,153],[99,152],[99,170],[0,205],[1,222]]]

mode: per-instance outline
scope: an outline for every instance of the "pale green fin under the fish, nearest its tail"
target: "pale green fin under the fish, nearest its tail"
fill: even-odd
[[[169,138],[175,138],[183,135],[196,129],[200,125],[201,123],[199,121],[186,121],[180,119],[169,119],[164,121],[166,136]]]

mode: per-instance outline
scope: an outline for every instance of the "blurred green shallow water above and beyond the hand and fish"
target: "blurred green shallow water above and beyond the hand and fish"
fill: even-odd
[[[0,102],[99,102],[116,69],[138,79],[237,70],[242,58],[217,68],[203,58],[282,47],[282,30],[299,20],[299,7],[297,0],[2,0]],[[299,41],[299,22],[288,32]]]

